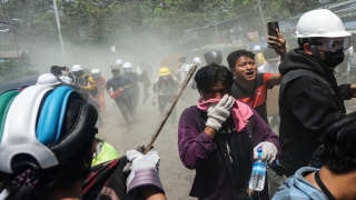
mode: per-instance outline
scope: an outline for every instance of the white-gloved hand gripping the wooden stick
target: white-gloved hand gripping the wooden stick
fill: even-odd
[[[162,190],[158,177],[158,166],[160,158],[157,154],[155,148],[152,148],[147,154],[142,154],[137,150],[129,150],[127,151],[126,156],[127,160],[131,162],[131,166],[127,166],[131,170],[130,174],[126,180],[128,191],[137,187],[150,184],[150,181],[152,180],[156,181],[154,186],[156,184],[157,188]]]

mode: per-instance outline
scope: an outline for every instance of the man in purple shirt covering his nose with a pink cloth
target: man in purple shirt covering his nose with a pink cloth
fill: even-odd
[[[196,170],[189,196],[249,199],[246,192],[257,148],[263,148],[263,159],[273,162],[278,137],[255,110],[230,96],[234,74],[228,68],[211,63],[199,69],[195,80],[201,99],[182,112],[178,127],[180,160]],[[256,194],[269,199],[268,184]]]

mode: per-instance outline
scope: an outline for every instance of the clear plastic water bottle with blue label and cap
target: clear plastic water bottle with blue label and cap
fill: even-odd
[[[258,159],[253,166],[251,177],[249,179],[248,189],[255,191],[261,191],[265,187],[267,164],[266,161],[261,159],[263,149],[257,148]]]

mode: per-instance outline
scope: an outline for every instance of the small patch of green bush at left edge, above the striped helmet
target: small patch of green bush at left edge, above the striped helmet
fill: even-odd
[[[17,60],[0,62],[0,83],[22,78],[27,70],[28,68],[21,67],[21,63]]]

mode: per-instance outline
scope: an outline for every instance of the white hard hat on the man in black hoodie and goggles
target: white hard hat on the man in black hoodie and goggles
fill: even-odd
[[[312,10],[299,18],[297,38],[339,38],[349,37],[343,21],[327,9]]]

